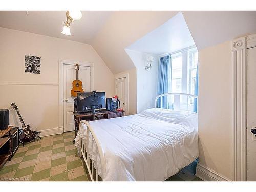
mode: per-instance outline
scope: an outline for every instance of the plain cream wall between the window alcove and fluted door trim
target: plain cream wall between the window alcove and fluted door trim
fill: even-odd
[[[232,180],[231,41],[199,50],[199,164]]]

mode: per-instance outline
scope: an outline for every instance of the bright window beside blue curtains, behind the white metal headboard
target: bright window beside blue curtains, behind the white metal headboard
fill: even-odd
[[[172,87],[169,88],[169,92],[189,93],[195,94],[196,74],[198,63],[198,51],[197,48],[188,49],[179,53],[172,54]],[[174,97],[168,98],[168,105],[170,108],[173,106]],[[181,97],[181,105],[193,109],[194,99],[187,97]]]

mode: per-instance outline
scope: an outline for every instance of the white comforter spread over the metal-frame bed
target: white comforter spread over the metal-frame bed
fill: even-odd
[[[163,181],[198,157],[194,112],[152,108],[90,124],[106,160],[104,181]],[[85,130],[80,127],[76,146]]]

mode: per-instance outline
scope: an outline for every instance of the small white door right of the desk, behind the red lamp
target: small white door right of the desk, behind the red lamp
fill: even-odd
[[[120,100],[121,108],[126,110],[127,105],[127,84],[126,84],[126,77],[118,78],[116,81],[116,95]],[[127,113],[127,112],[126,112]]]

